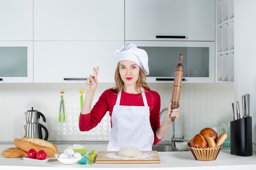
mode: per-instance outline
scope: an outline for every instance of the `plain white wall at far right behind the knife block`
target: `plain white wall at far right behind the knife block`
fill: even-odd
[[[234,100],[250,94],[252,116],[253,150],[256,151],[256,1],[234,0]]]

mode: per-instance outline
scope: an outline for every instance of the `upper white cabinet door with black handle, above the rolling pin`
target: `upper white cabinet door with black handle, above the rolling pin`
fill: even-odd
[[[125,40],[215,41],[215,0],[126,0]]]

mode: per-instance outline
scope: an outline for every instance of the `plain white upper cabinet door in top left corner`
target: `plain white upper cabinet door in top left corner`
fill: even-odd
[[[33,40],[33,0],[0,0],[0,40]]]

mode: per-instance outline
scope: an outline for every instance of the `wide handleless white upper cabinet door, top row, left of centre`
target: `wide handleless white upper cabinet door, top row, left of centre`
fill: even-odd
[[[34,40],[124,40],[124,0],[34,0]]]

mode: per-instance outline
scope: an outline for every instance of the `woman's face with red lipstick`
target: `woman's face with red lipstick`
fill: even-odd
[[[119,73],[124,84],[135,84],[139,78],[139,66],[135,62],[129,60],[120,61]]]

